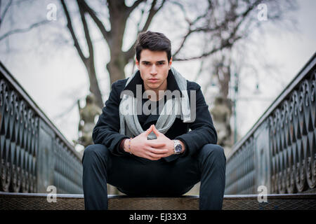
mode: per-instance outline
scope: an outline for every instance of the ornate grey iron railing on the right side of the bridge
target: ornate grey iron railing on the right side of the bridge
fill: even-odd
[[[315,191],[316,54],[228,155],[225,194]]]

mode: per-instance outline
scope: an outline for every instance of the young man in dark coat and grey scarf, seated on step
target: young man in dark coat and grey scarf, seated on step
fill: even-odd
[[[107,183],[126,195],[178,196],[199,181],[199,209],[222,208],[223,148],[201,87],[171,64],[164,34],[139,34],[138,71],[112,84],[84,151],[86,209],[107,209]]]

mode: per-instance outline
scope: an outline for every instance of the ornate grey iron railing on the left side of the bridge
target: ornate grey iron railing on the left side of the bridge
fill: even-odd
[[[81,157],[0,62],[0,191],[83,193]]]

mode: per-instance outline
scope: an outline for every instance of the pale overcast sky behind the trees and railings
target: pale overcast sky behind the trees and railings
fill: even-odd
[[[41,10],[36,10],[36,13],[45,15],[45,6],[49,2],[43,1]],[[289,31],[280,27],[277,32],[275,29],[267,29],[264,37],[254,34],[260,44],[261,55],[264,54],[268,62],[273,62],[279,73],[272,79],[265,71],[258,71],[258,78],[251,78],[246,74],[244,77],[241,76],[240,99],[237,107],[237,124],[241,136],[256,123],[273,99],[282,92],[284,86],[296,76],[316,50],[316,1],[301,0],[298,3],[300,8],[294,13],[297,31]],[[58,8],[57,18],[62,20],[60,10],[61,8]],[[23,17],[19,16],[22,23]],[[172,36],[168,29],[164,29],[157,23],[153,23],[150,28],[152,31],[163,31],[166,36]],[[58,27],[52,29],[58,29]],[[129,32],[133,33],[133,31]],[[43,35],[43,39],[35,40],[37,38],[34,38],[34,35]],[[78,134],[77,98],[84,99],[88,93],[86,70],[76,50],[70,44],[51,45],[49,41],[58,40],[58,36],[51,35],[48,38],[47,40],[47,36],[38,30],[28,34],[13,35],[8,41],[1,42],[0,60],[46,113],[46,116],[59,128],[60,132],[71,141],[77,139]],[[10,52],[6,51],[7,45],[10,45]],[[37,48],[38,45],[41,47]],[[107,48],[103,41],[95,43],[95,51],[95,57],[98,58],[96,71],[105,101],[109,90],[105,71]],[[251,62],[252,59],[249,57],[245,60]],[[175,62],[173,66],[188,80],[194,79],[191,76],[194,71],[197,71],[194,63]],[[127,66],[126,73],[130,71],[131,67]],[[255,95],[255,99],[253,97],[253,99],[246,100],[245,97],[253,94],[257,81],[260,84],[260,94]],[[197,83],[203,85],[203,80],[197,80]],[[211,91],[206,99],[209,100],[212,94]],[[84,106],[84,101],[82,101],[82,106]],[[212,105],[209,104],[209,106]]]

